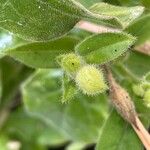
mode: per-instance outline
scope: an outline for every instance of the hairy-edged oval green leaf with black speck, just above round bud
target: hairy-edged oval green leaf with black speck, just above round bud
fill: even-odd
[[[122,55],[134,42],[128,34],[101,33],[83,40],[75,50],[87,63],[103,64]]]

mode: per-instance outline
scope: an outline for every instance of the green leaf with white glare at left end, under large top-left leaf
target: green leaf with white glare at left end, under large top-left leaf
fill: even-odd
[[[0,57],[11,56],[33,68],[57,67],[55,57],[74,50],[79,38],[66,36],[50,42],[27,42],[0,30]]]

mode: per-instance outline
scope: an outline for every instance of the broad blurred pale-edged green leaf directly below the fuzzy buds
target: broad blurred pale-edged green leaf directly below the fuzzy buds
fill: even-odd
[[[78,94],[68,105],[63,105],[61,76],[60,70],[36,72],[23,86],[26,110],[71,141],[95,142],[107,116],[105,96],[92,98]]]

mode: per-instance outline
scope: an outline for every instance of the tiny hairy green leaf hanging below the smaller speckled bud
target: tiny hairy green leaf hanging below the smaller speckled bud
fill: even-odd
[[[63,75],[62,81],[62,89],[63,89],[63,97],[62,103],[67,103],[74,98],[77,93],[77,88],[75,83],[67,77],[67,75]]]

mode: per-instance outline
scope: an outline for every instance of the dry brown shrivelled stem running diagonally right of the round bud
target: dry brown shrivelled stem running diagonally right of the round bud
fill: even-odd
[[[108,76],[112,103],[120,115],[132,125],[145,148],[150,150],[150,135],[138,118],[129,94],[116,83],[111,71],[106,66],[105,71]]]

